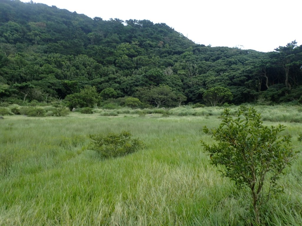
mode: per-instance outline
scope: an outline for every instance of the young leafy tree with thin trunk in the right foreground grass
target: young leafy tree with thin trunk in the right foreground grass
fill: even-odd
[[[295,154],[291,136],[278,135],[284,130],[283,125],[275,128],[262,123],[254,108],[239,109],[237,118],[232,118],[230,109],[225,109],[222,123],[212,130],[217,143],[209,146],[202,142],[204,150],[210,153],[211,163],[225,166],[223,176],[235,181],[238,187],[250,188],[257,225],[260,224],[259,208],[269,199],[272,190],[280,191],[277,180]],[[204,132],[210,133],[207,127]]]

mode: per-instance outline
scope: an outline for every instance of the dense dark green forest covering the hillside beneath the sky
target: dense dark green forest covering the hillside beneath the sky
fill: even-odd
[[[234,104],[297,102],[301,84],[302,46],[295,41],[268,53],[211,47],[149,20],[0,2],[0,102],[48,102],[85,87],[103,99],[132,96],[154,106],[160,95],[170,106],[204,103],[214,87],[227,88]]]

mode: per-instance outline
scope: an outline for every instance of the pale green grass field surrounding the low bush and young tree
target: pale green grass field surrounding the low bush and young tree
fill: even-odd
[[[256,108],[265,124],[286,125],[284,133],[302,150],[299,107]],[[202,127],[217,126],[223,110],[205,108],[200,116],[178,116],[182,108],[170,111],[169,117],[5,116],[0,225],[250,225],[248,190],[236,190],[222,178],[199,142],[212,142]],[[89,134],[122,130],[142,140],[144,149],[104,160],[87,148]],[[261,210],[265,225],[302,225],[301,154],[285,172],[284,193]]]

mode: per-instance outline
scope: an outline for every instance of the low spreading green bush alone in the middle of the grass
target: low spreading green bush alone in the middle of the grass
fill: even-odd
[[[136,152],[143,147],[143,143],[127,131],[121,133],[94,134],[89,136],[89,148],[98,152],[104,158],[124,156]]]

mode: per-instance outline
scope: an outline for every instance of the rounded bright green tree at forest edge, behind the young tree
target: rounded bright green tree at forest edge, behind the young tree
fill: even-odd
[[[230,89],[223,86],[216,86],[210,89],[207,89],[204,92],[203,99],[206,102],[210,102],[212,106],[216,106],[217,104],[222,104],[227,100],[232,100],[233,95]]]

